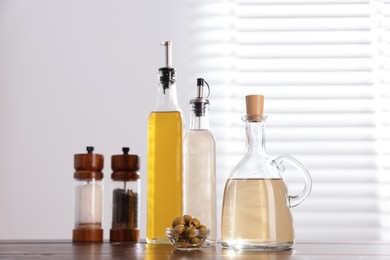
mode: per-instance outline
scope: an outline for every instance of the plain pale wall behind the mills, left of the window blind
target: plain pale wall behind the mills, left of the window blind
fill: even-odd
[[[0,1],[0,239],[71,238],[73,155],[87,145],[105,155],[105,238],[110,157],[122,146],[141,156],[145,237],[147,117],[162,40],[173,41],[187,111],[183,2]]]

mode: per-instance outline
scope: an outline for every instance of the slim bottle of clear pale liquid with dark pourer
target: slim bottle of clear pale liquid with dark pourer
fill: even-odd
[[[215,139],[209,131],[204,82],[197,79],[197,97],[190,101],[190,129],[183,141],[183,213],[198,218],[210,229],[204,245],[213,246],[217,236]]]

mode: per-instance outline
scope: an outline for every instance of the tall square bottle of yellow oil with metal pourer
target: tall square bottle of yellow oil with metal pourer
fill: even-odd
[[[171,42],[166,66],[159,69],[157,106],[148,121],[148,177],[146,241],[165,244],[165,229],[182,214],[182,114],[177,102]]]

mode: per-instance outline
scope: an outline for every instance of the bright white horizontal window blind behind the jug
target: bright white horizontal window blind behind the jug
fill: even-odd
[[[244,96],[263,94],[266,146],[313,178],[297,240],[390,239],[389,1],[189,1],[190,71],[211,86],[218,217],[244,154]],[[291,193],[300,176],[284,174]]]

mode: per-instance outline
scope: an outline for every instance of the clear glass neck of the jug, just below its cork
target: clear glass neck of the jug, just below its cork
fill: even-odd
[[[246,150],[250,155],[267,156],[265,151],[265,121],[246,121]]]

